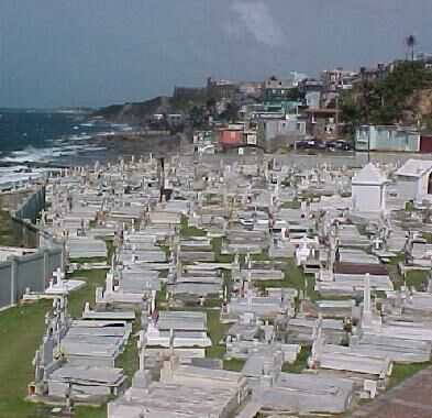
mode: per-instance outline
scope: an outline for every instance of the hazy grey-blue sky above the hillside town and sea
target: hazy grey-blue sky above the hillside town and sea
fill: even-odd
[[[0,0],[0,107],[100,107],[208,76],[318,76],[432,52],[431,0]]]

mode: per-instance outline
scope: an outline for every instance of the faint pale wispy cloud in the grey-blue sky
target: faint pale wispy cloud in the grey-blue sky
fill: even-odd
[[[245,32],[267,46],[283,43],[283,31],[270,14],[270,8],[263,1],[234,1],[231,7],[232,19],[223,29],[230,36],[240,37]]]

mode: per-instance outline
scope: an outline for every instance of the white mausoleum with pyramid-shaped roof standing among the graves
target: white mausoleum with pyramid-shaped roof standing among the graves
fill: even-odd
[[[387,177],[372,163],[352,179],[353,208],[362,212],[379,212],[386,208]]]

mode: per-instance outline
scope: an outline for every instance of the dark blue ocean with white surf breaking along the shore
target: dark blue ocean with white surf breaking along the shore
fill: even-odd
[[[90,140],[126,125],[91,122],[78,113],[0,108],[0,189],[36,180],[56,164],[112,160]],[[38,164],[42,163],[42,164]],[[41,165],[41,166],[38,166]]]

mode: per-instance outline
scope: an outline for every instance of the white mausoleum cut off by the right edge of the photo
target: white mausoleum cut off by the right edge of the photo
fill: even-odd
[[[432,161],[408,160],[397,172],[398,197],[405,200],[432,199]]]

